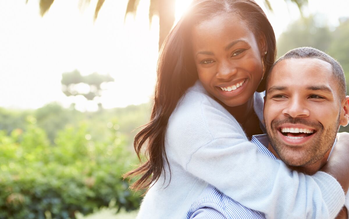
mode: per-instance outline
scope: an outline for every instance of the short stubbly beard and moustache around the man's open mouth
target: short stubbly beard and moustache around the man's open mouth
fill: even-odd
[[[338,131],[339,122],[340,114],[337,120],[327,128],[324,128],[319,121],[292,118],[289,116],[286,119],[273,120],[271,127],[266,123],[266,129],[270,144],[286,164],[290,166],[308,166],[322,159],[326,152],[331,149]],[[302,145],[304,152],[300,158],[294,158],[287,154],[286,148],[292,148],[292,146],[285,144],[282,139],[280,139],[279,130],[277,130],[276,127],[284,123],[303,124],[317,130],[316,133],[314,133],[316,136],[313,136],[310,141]]]

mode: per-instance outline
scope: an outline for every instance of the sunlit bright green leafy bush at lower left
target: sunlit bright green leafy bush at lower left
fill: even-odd
[[[66,126],[51,144],[35,118],[27,120],[25,131],[0,131],[0,219],[75,218],[111,200],[138,208],[139,194],[121,179],[136,160],[115,129],[95,141],[86,124]]]

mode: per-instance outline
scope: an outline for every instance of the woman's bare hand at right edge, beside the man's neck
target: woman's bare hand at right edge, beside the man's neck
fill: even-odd
[[[320,169],[332,175],[341,184],[344,193],[349,188],[349,133],[337,134],[337,143],[327,163]]]

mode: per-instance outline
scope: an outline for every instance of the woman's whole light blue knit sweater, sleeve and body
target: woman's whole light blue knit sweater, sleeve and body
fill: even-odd
[[[254,110],[262,119],[263,95]],[[172,113],[165,150],[171,168],[143,199],[138,219],[180,219],[207,183],[266,218],[335,218],[344,192],[330,175],[290,171],[258,152],[233,116],[198,81]]]

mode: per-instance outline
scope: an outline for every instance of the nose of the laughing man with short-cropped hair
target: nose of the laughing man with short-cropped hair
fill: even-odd
[[[293,118],[309,116],[310,111],[306,107],[306,103],[298,97],[291,98],[287,106],[283,109],[284,115],[289,115]]]

